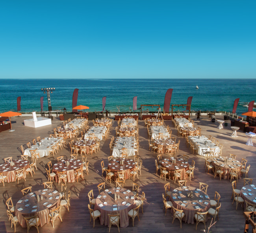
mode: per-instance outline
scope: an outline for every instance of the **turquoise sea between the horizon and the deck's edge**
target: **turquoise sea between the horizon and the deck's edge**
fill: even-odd
[[[196,89],[198,85],[199,89]],[[52,109],[72,110],[72,94],[78,88],[78,105],[90,107],[89,111],[102,111],[102,97],[106,96],[106,109],[129,111],[132,100],[137,97],[137,107],[141,104],[160,104],[163,107],[167,89],[173,88],[171,104],[186,104],[193,96],[192,110],[232,111],[234,100],[240,98],[237,113],[246,112],[245,105],[256,101],[256,80],[221,79],[45,79],[6,80],[0,84],[0,112],[17,111],[17,97],[21,96],[21,111],[40,111],[40,97],[44,96],[44,110],[47,111],[47,96],[41,88],[55,87],[51,96]],[[146,108],[145,108],[146,109]],[[182,107],[176,107],[175,110]],[[152,108],[150,108],[152,110]],[[156,107],[154,108],[156,111]]]

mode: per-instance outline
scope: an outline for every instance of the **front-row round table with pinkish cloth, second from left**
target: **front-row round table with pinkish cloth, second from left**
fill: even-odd
[[[115,194],[119,195],[120,198],[115,200]],[[128,227],[128,212],[131,209],[136,208],[134,200],[133,192],[120,187],[106,189],[100,192],[99,196],[96,198],[96,204],[94,207],[95,211],[100,211],[100,224],[109,226],[108,215],[120,214],[120,227]]]

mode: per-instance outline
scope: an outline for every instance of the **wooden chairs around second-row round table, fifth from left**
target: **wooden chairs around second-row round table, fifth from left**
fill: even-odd
[[[215,165],[215,167],[211,164],[212,163],[212,158],[214,157],[214,153],[207,153],[205,152],[205,163],[204,163],[204,166],[206,165],[206,170],[208,170],[208,174],[209,174],[209,171],[212,170],[212,172],[214,173],[214,178],[216,176],[219,176],[220,177],[220,180],[221,180],[221,176],[224,176],[224,171],[223,171],[223,167],[221,166],[217,166]],[[229,155],[230,158],[232,159],[236,159],[236,155],[233,155],[233,154],[230,154]],[[248,176],[248,172],[249,172],[249,169],[250,169],[250,165],[248,165],[246,167],[246,164],[247,164],[247,159],[244,159],[242,158],[242,161],[241,161],[241,169],[240,168],[231,168],[231,172],[229,173],[229,177],[230,177],[230,182],[232,182],[232,179],[236,179],[237,182],[238,182],[238,178],[239,178],[239,174],[245,174],[245,178],[246,177],[249,177]]]

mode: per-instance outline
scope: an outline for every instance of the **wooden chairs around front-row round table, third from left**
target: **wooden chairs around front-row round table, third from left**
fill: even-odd
[[[179,187],[180,186],[186,186],[186,180],[178,181]],[[207,193],[208,185],[206,183],[199,183],[200,187],[199,189]],[[171,191],[170,191],[170,183],[165,184],[165,194],[162,194],[163,198],[163,210],[165,209],[165,216],[167,209],[171,208],[173,210],[173,222],[174,219],[177,218],[180,221],[180,228],[182,228],[182,219],[185,217],[185,213],[182,210],[176,209],[173,206],[173,203],[171,201],[167,201],[166,198],[170,198]],[[219,211],[221,209],[221,203],[219,202],[221,196],[218,192],[215,192],[214,200],[210,200],[210,209],[204,213],[197,212],[194,215],[195,220],[197,221],[196,224],[196,230],[197,225],[199,222],[204,223],[204,228],[206,229],[205,223],[207,220],[207,217],[210,215],[213,217],[213,222],[215,222],[215,218],[217,217],[219,220]]]

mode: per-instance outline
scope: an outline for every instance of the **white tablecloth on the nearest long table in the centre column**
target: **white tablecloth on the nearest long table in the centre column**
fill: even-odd
[[[124,145],[125,141],[125,145]],[[134,156],[134,137],[117,137],[117,140],[115,141],[115,146],[113,148],[113,157],[120,157],[122,153],[122,148],[127,148],[127,155],[128,156]]]

